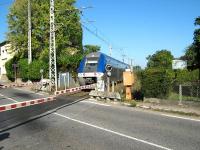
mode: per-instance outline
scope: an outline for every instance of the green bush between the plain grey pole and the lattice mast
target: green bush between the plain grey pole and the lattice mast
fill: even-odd
[[[29,79],[32,81],[38,81],[41,79],[40,69],[44,70],[44,76],[47,76],[48,64],[41,60],[34,60],[29,65]]]

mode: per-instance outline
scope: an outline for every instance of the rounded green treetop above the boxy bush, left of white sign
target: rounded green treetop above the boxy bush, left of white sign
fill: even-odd
[[[168,50],[157,51],[153,55],[147,57],[147,67],[148,68],[172,68],[173,55]]]

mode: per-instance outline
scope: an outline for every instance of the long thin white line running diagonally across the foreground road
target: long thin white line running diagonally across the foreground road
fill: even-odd
[[[154,143],[151,143],[151,142],[142,140],[142,139],[138,139],[138,138],[136,138],[136,137],[132,137],[132,136],[129,136],[129,135],[125,135],[125,134],[123,134],[123,133],[119,133],[119,132],[116,132],[116,131],[113,131],[113,130],[110,130],[110,129],[106,129],[106,128],[103,128],[103,127],[99,127],[99,126],[96,126],[96,125],[93,125],[93,124],[90,124],[90,123],[87,123],[87,122],[83,122],[83,121],[80,121],[80,120],[77,120],[77,119],[73,119],[73,118],[64,116],[64,115],[59,114],[59,113],[54,113],[54,114],[57,115],[57,116],[60,116],[60,117],[62,117],[62,118],[65,118],[65,119],[68,119],[68,120],[71,120],[71,121],[74,121],[74,122],[78,122],[78,123],[80,123],[80,124],[84,124],[84,125],[86,125],[86,126],[90,126],[90,127],[93,127],[93,128],[99,129],[99,130],[103,130],[103,131],[106,131],[106,132],[109,132],[109,133],[112,133],[112,134],[115,134],[115,135],[119,135],[119,136],[122,136],[122,137],[125,137],[125,138],[128,138],[128,139],[131,139],[131,140],[134,140],[134,141],[138,141],[138,142],[141,142],[141,143],[144,143],[144,144],[148,144],[148,145],[151,145],[151,146],[160,148],[160,149],[172,150],[172,149],[170,149],[170,148],[167,148],[167,147],[164,147],[164,146],[161,146],[161,145],[158,145],[158,144],[154,144]]]

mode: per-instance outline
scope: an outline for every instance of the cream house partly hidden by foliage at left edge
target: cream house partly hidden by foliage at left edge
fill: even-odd
[[[6,62],[13,58],[14,52],[11,50],[11,44],[8,41],[0,43],[0,80],[7,80],[6,76]]]

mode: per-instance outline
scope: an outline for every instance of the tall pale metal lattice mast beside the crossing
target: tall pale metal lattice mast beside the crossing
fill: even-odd
[[[56,41],[55,41],[55,16],[54,0],[50,0],[50,45],[49,45],[49,79],[50,90],[57,91],[57,68],[56,68]]]

